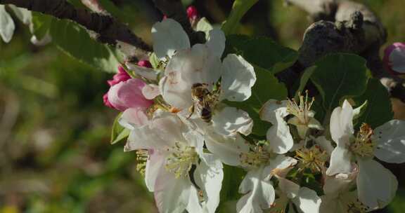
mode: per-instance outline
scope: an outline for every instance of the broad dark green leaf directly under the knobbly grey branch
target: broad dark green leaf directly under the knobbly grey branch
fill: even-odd
[[[367,87],[366,60],[358,55],[337,53],[315,63],[311,81],[321,93],[323,108],[330,112],[344,98],[356,97]]]

